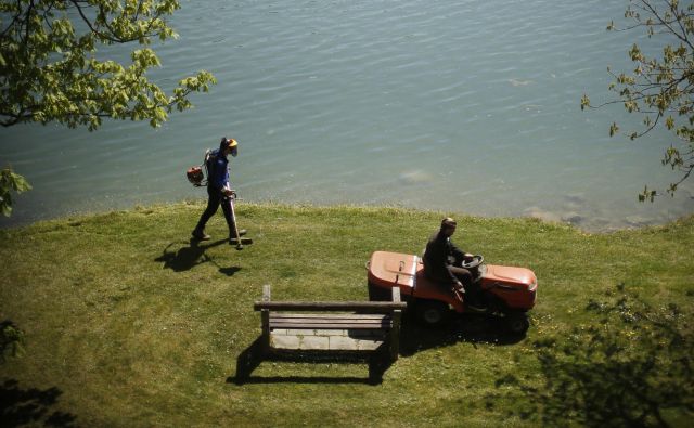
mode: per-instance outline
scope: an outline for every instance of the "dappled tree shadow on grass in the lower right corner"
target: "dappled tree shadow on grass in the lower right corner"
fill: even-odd
[[[691,426],[691,314],[672,303],[653,308],[624,286],[613,296],[588,304],[589,324],[532,343],[539,382],[505,373],[486,405],[501,403],[510,416],[542,426]],[[505,406],[510,401],[517,405]]]

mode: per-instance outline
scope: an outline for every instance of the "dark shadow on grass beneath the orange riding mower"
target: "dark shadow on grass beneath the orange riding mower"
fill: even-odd
[[[421,326],[414,316],[407,316],[400,330],[400,354],[411,356],[419,351],[459,342],[515,345],[524,338],[507,333],[503,320],[491,315],[455,314],[440,328]]]

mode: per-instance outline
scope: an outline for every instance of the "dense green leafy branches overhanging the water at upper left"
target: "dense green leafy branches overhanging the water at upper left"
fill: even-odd
[[[153,38],[176,34],[165,17],[176,0],[2,0],[0,2],[0,124],[57,121],[99,128],[103,117],[159,126],[172,109],[191,107],[191,92],[206,92],[214,76],[180,80],[171,95],[151,82],[159,65]],[[99,44],[137,42],[131,64],[97,55]]]

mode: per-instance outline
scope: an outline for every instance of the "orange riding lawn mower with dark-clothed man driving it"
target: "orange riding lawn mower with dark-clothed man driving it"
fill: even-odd
[[[445,230],[447,220],[450,219],[444,219],[439,231],[444,237],[439,236],[439,239],[452,246],[449,239],[452,233]],[[450,234],[446,236],[447,233]],[[485,264],[481,256],[460,251],[464,255],[462,262],[458,267],[449,262],[449,269],[460,270],[450,269],[451,275],[440,275],[440,271],[439,275],[432,274],[430,263],[436,255],[427,257],[427,254],[436,251],[436,243],[432,244],[435,239],[436,236],[427,244],[423,259],[399,252],[373,252],[368,263],[370,300],[388,300],[390,288],[397,286],[408,302],[408,311],[413,310],[419,321],[427,326],[445,324],[452,308],[459,314],[473,312],[500,316],[511,333],[525,334],[529,327],[527,311],[535,306],[537,295],[535,273],[526,268]],[[429,267],[429,272],[425,265]],[[474,306],[470,304],[468,294],[476,294]]]

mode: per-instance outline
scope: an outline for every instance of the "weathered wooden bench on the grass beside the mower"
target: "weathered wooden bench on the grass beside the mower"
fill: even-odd
[[[407,303],[393,288],[391,301],[272,301],[262,288],[260,311],[264,353],[325,352],[383,355],[398,359],[400,321]]]

